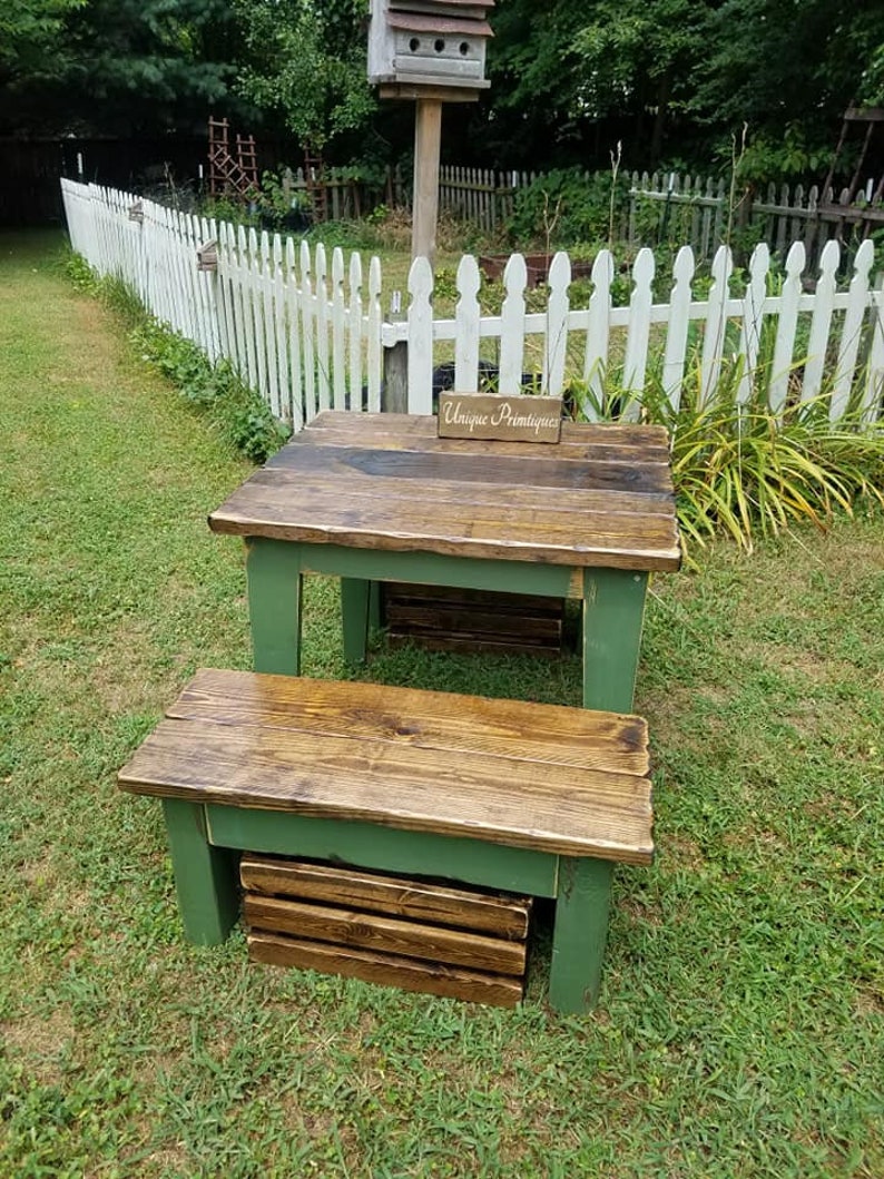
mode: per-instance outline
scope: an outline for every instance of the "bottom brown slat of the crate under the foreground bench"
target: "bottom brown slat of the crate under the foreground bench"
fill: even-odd
[[[515,1007],[523,986],[519,980],[483,975],[476,970],[436,967],[414,959],[391,959],[369,950],[302,942],[291,937],[251,934],[249,954],[255,962],[299,967],[362,979],[402,990],[416,990],[495,1007]]]

